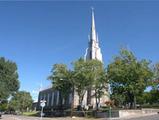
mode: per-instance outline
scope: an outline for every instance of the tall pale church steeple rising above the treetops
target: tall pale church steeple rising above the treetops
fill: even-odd
[[[98,35],[95,28],[94,9],[92,8],[92,23],[89,35],[88,48],[86,49],[85,59],[97,59],[102,62],[102,53],[99,47]]]

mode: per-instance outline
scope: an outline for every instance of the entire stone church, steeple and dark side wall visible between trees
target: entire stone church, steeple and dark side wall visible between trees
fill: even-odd
[[[84,57],[85,57],[85,60],[97,59],[103,62],[101,49],[99,47],[99,39],[98,39],[98,35],[96,33],[96,28],[95,28],[95,19],[94,19],[93,10],[92,10],[92,23],[91,23],[91,31],[89,35],[89,43],[88,43],[88,48],[86,49],[86,53]],[[104,105],[105,101],[109,100],[107,91],[108,90],[104,91],[105,95],[101,98],[101,105]],[[94,90],[88,90],[86,92],[83,99],[83,105],[92,105],[93,107],[95,107],[95,98],[92,97],[93,93],[94,93]],[[74,97],[73,99],[74,101],[72,101],[72,93],[70,93],[66,101],[62,100],[63,106],[65,108],[70,108],[72,102],[74,103],[74,107],[78,105],[79,97],[76,92],[73,97]],[[46,100],[45,109],[52,110],[52,111],[56,110],[58,109],[60,105],[60,102],[59,102],[61,100],[60,92],[57,90],[53,90],[52,88],[40,91],[39,98],[38,98],[38,108],[40,108],[40,100],[43,100],[43,99]]]

